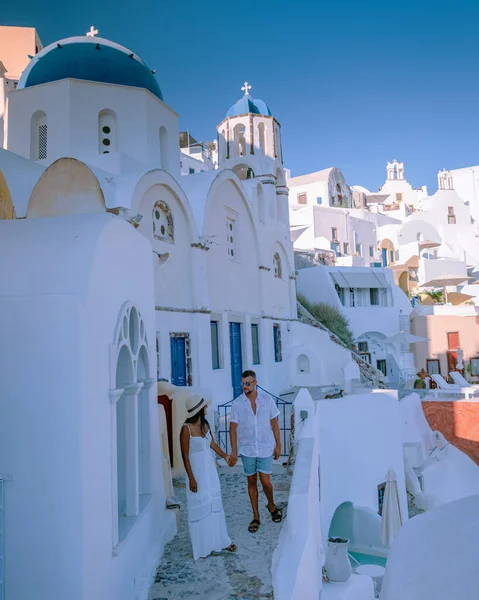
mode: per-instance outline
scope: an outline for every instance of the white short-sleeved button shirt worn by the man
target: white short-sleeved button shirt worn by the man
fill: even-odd
[[[276,446],[271,420],[279,415],[278,407],[269,394],[261,390],[256,398],[256,414],[245,394],[231,406],[231,423],[237,423],[238,452],[243,456],[268,458]]]

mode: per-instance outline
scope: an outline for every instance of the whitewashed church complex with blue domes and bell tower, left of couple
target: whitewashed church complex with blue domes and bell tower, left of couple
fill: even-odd
[[[280,124],[250,86],[218,168],[182,177],[139,56],[27,33],[17,76],[0,46],[0,591],[140,599],[176,531],[156,382],[217,405],[246,368],[276,394],[359,371],[297,318]]]

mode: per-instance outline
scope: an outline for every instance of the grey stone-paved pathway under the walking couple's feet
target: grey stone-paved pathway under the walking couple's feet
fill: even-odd
[[[271,521],[266,499],[261,492],[261,527],[258,533],[249,533],[252,513],[241,467],[223,467],[219,471],[228,533],[238,547],[236,553],[223,552],[219,556],[193,561],[186,520],[185,484],[184,480],[175,481],[175,495],[183,507],[180,529],[165,549],[149,600],[273,598],[271,559],[281,525]],[[289,482],[286,470],[275,465],[273,483],[278,505],[286,504]]]

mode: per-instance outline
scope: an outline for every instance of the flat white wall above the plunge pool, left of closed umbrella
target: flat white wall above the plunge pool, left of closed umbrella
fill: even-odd
[[[343,502],[378,511],[378,485],[393,469],[404,518],[407,498],[401,417],[394,391],[319,401],[319,462],[323,539]],[[377,517],[377,520],[379,516]],[[379,519],[380,520],[380,519]],[[380,539],[376,540],[380,545]]]

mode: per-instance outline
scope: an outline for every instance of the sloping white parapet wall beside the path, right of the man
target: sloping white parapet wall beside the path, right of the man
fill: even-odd
[[[317,416],[310,393],[301,389],[294,402],[294,465],[288,514],[273,554],[271,572],[276,600],[318,600],[324,550],[319,505]]]

